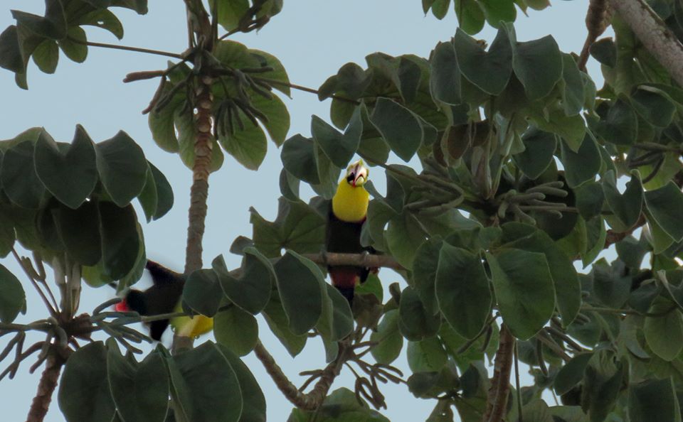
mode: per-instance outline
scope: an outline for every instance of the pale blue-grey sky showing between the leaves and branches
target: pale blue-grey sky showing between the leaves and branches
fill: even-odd
[[[523,41],[551,34],[561,50],[578,53],[586,37],[583,19],[587,6],[587,0],[555,0],[553,6],[545,11],[529,9],[529,18],[518,10],[517,38]],[[41,0],[4,0],[0,8],[0,31],[14,23],[11,9],[42,13],[43,7],[44,2]],[[126,9],[115,9],[115,13],[125,28],[125,38],[120,43],[178,53],[186,49],[182,1],[150,0],[146,16],[138,16]],[[390,55],[413,53],[428,57],[436,43],[448,40],[456,27],[455,13],[449,11],[443,21],[438,21],[431,14],[424,16],[419,0],[288,0],[282,13],[275,16],[262,31],[238,34],[233,39],[280,58],[292,83],[317,88],[344,63],[355,62],[366,67],[364,57],[376,51]],[[485,38],[490,42],[494,35],[495,31],[487,26],[477,38]],[[118,42],[110,33],[97,28],[88,29],[88,39]],[[127,131],[142,146],[149,161],[169,178],[175,194],[175,205],[171,212],[156,222],[145,224],[144,215],[137,207],[144,227],[147,256],[181,271],[191,173],[178,156],[157,148],[147,127],[147,117],[140,114],[147,107],[157,82],[121,82],[128,72],[164,67],[166,58],[159,56],[90,48],[88,60],[83,64],[73,63],[60,55],[54,75],[43,74],[31,63],[28,91],[16,87],[13,73],[0,69],[0,139],[12,138],[32,126],[44,126],[58,141],[70,141],[76,124],[82,124],[96,142],[109,139],[119,130]],[[594,60],[589,62],[588,69],[599,87],[601,77]],[[313,94],[292,90],[292,99],[285,99],[285,102],[292,117],[289,136],[297,133],[309,136],[312,114],[329,121],[329,102],[321,103]],[[392,160],[398,158],[393,157]],[[280,151],[269,143],[268,155],[258,172],[245,170],[226,156],[223,168],[211,175],[203,243],[205,266],[218,254],[224,254],[228,266],[239,265],[238,257],[229,254],[228,249],[238,235],[250,236],[250,206],[269,220],[275,217],[281,168]],[[374,171],[373,176],[375,185],[383,190],[381,172]],[[46,311],[41,301],[29,288],[28,281],[23,278],[11,256],[0,262],[22,282],[26,282],[28,314],[20,315],[17,322],[30,323],[44,318]],[[393,281],[400,281],[405,286],[405,281],[386,270],[380,276],[384,286]],[[86,286],[81,311],[89,312],[111,297],[112,290],[108,287],[95,290]],[[310,341],[296,359],[291,359],[284,347],[270,334],[263,319],[260,319],[260,330],[263,343],[295,384],[303,382],[303,378],[297,375],[299,372],[324,367],[324,353],[319,341]],[[27,342],[30,340],[33,337],[29,337]],[[41,339],[36,336],[33,341],[38,340]],[[0,347],[4,347],[6,341],[6,337],[1,339]],[[265,393],[268,420],[285,421],[292,405],[277,391],[253,354],[243,359]],[[8,363],[3,362],[0,368],[4,369]],[[0,382],[0,405],[4,421],[25,420],[31,399],[36,393],[40,371],[28,374],[28,367],[33,362],[28,360],[25,363],[16,379]],[[395,364],[406,372],[406,377],[410,374],[405,354]],[[353,378],[344,372],[332,389],[339,386],[352,389]],[[406,386],[388,384],[382,388],[382,392],[388,404],[388,410],[382,413],[391,421],[423,421],[435,405],[435,401],[415,399]],[[63,421],[56,393],[46,421]]]

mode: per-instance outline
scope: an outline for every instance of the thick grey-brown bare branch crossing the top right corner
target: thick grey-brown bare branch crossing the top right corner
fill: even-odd
[[[683,44],[644,0],[609,0],[640,42],[683,85]]]

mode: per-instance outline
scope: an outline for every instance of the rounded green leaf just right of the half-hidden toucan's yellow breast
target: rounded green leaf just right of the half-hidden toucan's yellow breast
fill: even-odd
[[[233,305],[213,318],[213,335],[218,344],[235,355],[245,356],[258,342],[258,322],[253,315]]]

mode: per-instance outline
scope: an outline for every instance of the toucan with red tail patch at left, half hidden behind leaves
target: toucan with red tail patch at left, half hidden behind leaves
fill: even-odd
[[[150,260],[147,261],[145,268],[152,276],[152,287],[145,291],[129,290],[122,301],[115,305],[115,310],[118,312],[132,310],[145,316],[181,311],[180,298],[183,294],[186,276]],[[192,338],[213,328],[213,318],[195,315],[194,318],[179,317],[170,321],[152,321],[149,323],[149,336],[154,340],[161,340],[169,323],[175,328],[176,334]]]

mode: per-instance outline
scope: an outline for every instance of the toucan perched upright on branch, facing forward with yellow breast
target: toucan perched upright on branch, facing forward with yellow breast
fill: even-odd
[[[370,195],[364,185],[369,170],[362,160],[352,163],[339,181],[332,197],[327,219],[325,250],[345,254],[374,253],[371,247],[361,245],[361,229],[368,215]],[[370,271],[376,269],[358,266],[327,266],[332,285],[349,303],[354,298],[356,284],[363,283]]]

